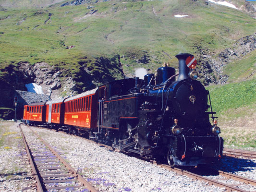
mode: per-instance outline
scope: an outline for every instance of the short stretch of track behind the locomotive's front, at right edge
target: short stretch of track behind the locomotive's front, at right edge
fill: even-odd
[[[246,151],[241,149],[230,149],[224,148],[223,149],[224,156],[232,156],[232,157],[243,157],[246,159],[254,159],[256,158],[256,151]]]

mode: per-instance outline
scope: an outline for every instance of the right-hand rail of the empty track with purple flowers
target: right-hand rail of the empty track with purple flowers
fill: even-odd
[[[66,168],[71,172],[71,174],[74,177],[77,177],[77,180],[79,180],[85,188],[87,188],[90,192],[98,192],[88,181],[85,180],[74,168],[72,168],[65,160],[62,158],[48,143],[46,143],[34,130],[32,130],[30,127],[28,127],[37,137],[42,141],[43,144],[45,144],[49,150],[57,156],[57,158],[63,163],[63,165],[66,166]]]

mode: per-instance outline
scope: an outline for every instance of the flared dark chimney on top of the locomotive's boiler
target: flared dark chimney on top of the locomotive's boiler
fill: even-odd
[[[189,68],[186,65],[186,59],[189,56],[193,56],[193,55],[191,55],[189,53],[180,53],[180,54],[175,56],[179,60],[179,77],[178,77],[178,81],[189,78],[189,76],[188,76]]]

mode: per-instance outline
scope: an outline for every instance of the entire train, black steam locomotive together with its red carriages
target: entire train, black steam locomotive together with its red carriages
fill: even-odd
[[[117,80],[77,96],[26,105],[23,120],[87,136],[118,151],[166,159],[171,167],[215,163],[223,139],[209,92],[196,80],[194,56],[176,58],[178,74],[164,66],[144,80]]]

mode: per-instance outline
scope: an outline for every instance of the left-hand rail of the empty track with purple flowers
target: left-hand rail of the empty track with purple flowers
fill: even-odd
[[[19,124],[19,128],[20,128],[20,130],[21,130],[21,135],[22,135],[22,137],[23,137],[23,142],[24,142],[24,145],[25,145],[25,149],[26,149],[26,152],[27,152],[27,156],[28,156],[28,158],[29,158],[29,163],[30,163],[30,166],[31,166],[31,168],[32,168],[32,175],[35,177],[35,179],[37,180],[37,183],[36,183],[36,185],[37,185],[37,191],[38,192],[44,192],[44,189],[43,189],[43,186],[42,186],[42,181],[40,180],[40,178],[39,178],[39,172],[38,172],[38,170],[37,170],[37,168],[36,168],[36,165],[35,165],[35,163],[34,163],[34,160],[33,160],[33,157],[32,157],[32,154],[31,154],[31,151],[30,151],[30,149],[29,149],[29,147],[28,147],[28,144],[27,144],[27,142],[26,142],[26,139],[25,139],[25,136],[24,136],[24,133],[23,133],[23,131],[22,131],[22,129],[21,129],[21,123]]]

